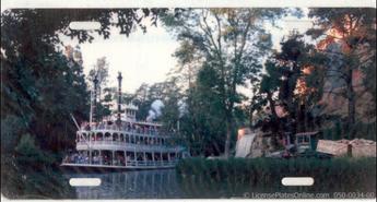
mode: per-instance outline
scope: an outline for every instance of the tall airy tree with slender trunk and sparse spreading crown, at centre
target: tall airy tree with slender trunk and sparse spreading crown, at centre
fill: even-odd
[[[260,57],[271,45],[269,37],[263,37],[266,33],[260,22],[263,17],[274,19],[280,14],[281,10],[201,9],[163,17],[165,25],[177,33],[178,40],[187,47],[176,54],[185,64],[198,62],[199,58],[201,66],[211,66],[219,75],[226,124],[225,156],[229,155],[234,134],[235,105],[241,99],[237,86],[244,85],[247,79],[252,79],[261,70]],[[196,57],[191,57],[192,51]]]

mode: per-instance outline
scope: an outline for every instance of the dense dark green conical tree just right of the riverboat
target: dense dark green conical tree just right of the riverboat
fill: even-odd
[[[224,151],[226,128],[217,76],[212,67],[204,66],[186,93],[187,111],[181,117],[180,132],[192,155],[220,155]]]

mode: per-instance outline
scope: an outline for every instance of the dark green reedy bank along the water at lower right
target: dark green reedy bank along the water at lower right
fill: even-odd
[[[363,192],[370,197],[376,192],[376,158],[190,158],[181,161],[176,170],[187,195],[199,198],[276,191],[325,192],[329,197],[334,192]],[[281,179],[287,176],[313,177],[315,185],[283,187]]]

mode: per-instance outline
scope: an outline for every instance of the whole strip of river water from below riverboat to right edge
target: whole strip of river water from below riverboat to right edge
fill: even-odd
[[[175,169],[99,174],[64,174],[69,178],[101,178],[98,187],[76,187],[78,199],[361,199],[375,198],[372,189],[344,189],[340,185],[283,187],[280,182],[249,187],[245,181],[219,183],[196,177],[179,178]],[[260,180],[267,180],[260,178]],[[330,180],[329,180],[330,183]],[[317,187],[317,188],[316,188]],[[344,186],[343,186],[344,187]]]

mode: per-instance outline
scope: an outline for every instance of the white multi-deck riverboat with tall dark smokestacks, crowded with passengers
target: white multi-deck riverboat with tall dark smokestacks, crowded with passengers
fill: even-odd
[[[91,112],[90,123],[76,123],[75,151],[64,157],[61,166],[74,169],[173,168],[188,153],[175,143],[173,133],[163,132],[161,123],[136,119],[138,107],[120,103],[120,74],[118,81],[118,112],[102,121],[92,121]]]

